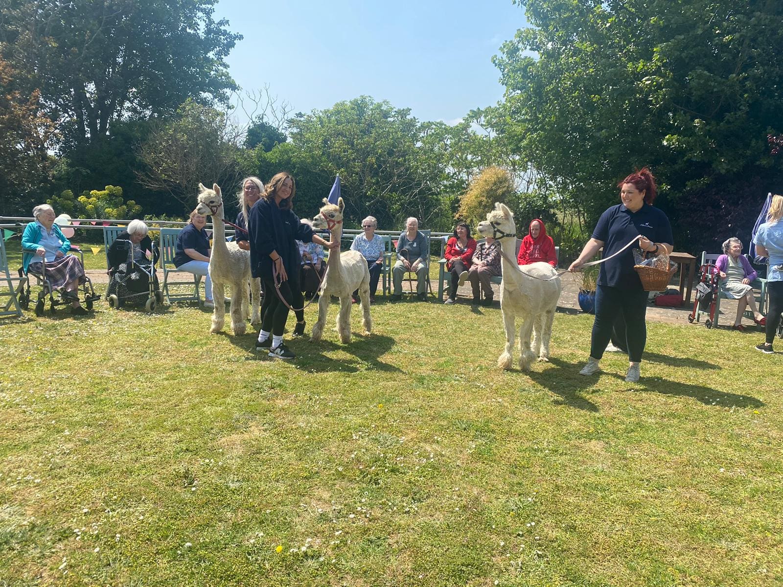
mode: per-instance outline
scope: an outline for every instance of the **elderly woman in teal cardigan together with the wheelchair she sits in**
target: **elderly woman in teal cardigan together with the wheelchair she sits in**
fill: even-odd
[[[43,286],[35,305],[36,315],[43,314],[47,295],[52,314],[60,304],[70,304],[70,312],[74,315],[87,314],[88,310],[92,310],[92,302],[99,298],[85,275],[81,251],[70,246],[70,241],[55,224],[54,209],[49,204],[34,207],[33,216],[35,221],[30,222],[22,234],[22,272],[27,277],[23,304],[27,307],[30,303],[30,275],[33,275]],[[72,250],[77,251],[80,257],[69,254]],[[79,286],[84,288],[86,310],[79,302]],[[59,301],[54,298],[55,291],[60,294]]]

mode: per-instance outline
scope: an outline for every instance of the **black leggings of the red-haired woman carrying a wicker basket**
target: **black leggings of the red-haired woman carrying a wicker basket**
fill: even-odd
[[[612,329],[619,313],[626,321],[626,344],[628,358],[640,362],[647,342],[648,293],[644,290],[626,290],[619,287],[597,286],[595,291],[595,322],[590,340],[590,356],[600,359],[604,356]]]

